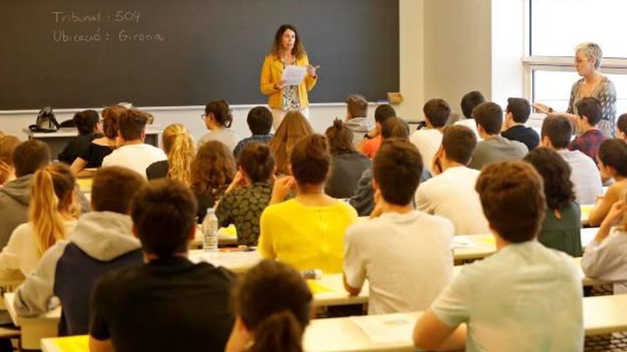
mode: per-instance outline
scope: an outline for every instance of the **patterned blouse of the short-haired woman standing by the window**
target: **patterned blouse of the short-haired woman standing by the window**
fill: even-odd
[[[566,112],[577,114],[576,102],[582,97],[579,96],[581,87],[584,85],[584,78],[574,82],[571,88],[571,98]],[[598,122],[598,129],[608,138],[616,137],[616,88],[607,77],[601,78],[601,82],[592,91],[591,97],[596,97],[601,102],[601,121]]]

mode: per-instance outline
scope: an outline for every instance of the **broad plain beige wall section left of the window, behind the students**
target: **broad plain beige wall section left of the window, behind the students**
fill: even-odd
[[[490,0],[424,1],[424,99],[461,114],[471,90],[492,96]]]

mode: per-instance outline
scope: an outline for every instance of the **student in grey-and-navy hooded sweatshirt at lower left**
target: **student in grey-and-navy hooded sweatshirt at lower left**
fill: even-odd
[[[18,287],[14,307],[19,316],[38,316],[50,309],[52,297],[61,301],[58,334],[89,331],[89,297],[96,280],[120,267],[140,265],[140,242],[132,235],[128,214],[133,195],[145,177],[119,166],[103,167],[93,178],[93,211],[78,219],[68,240],[43,254],[37,267]]]

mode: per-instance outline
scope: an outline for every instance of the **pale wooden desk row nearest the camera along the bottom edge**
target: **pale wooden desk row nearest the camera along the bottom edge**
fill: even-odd
[[[586,336],[627,331],[627,294],[584,298],[584,331]],[[304,336],[304,349],[308,352],[410,352],[415,351],[411,331],[420,312],[358,316],[346,318],[314,319]],[[357,324],[361,321],[385,319],[395,321],[403,338],[395,342],[372,341]],[[406,338],[404,337],[406,336]],[[65,341],[63,341],[65,339]],[[87,336],[70,338],[44,338],[43,352],[69,352],[58,343],[75,343],[75,351],[87,351]]]

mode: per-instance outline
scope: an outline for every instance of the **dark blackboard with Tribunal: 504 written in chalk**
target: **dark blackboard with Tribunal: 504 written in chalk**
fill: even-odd
[[[2,0],[0,110],[263,104],[282,23],[321,65],[310,102],[399,90],[398,0]]]

